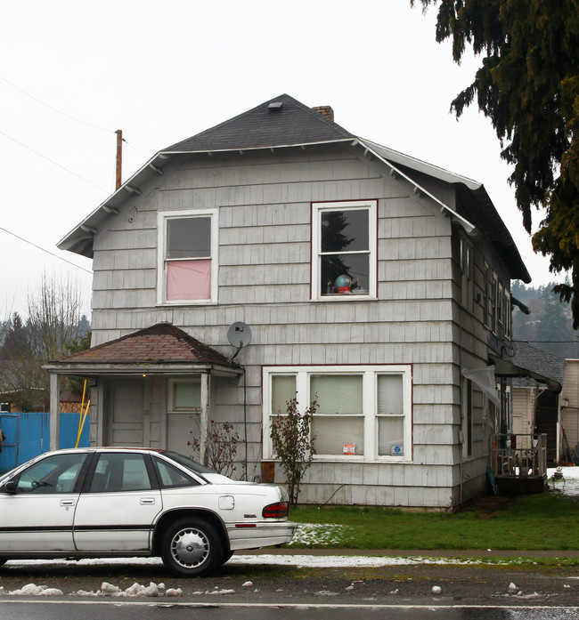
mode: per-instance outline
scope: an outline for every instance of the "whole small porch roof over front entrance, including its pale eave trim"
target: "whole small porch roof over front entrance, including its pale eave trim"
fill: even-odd
[[[191,373],[240,374],[224,355],[170,323],[158,323],[56,359],[44,366],[55,374]]]

